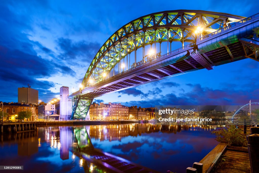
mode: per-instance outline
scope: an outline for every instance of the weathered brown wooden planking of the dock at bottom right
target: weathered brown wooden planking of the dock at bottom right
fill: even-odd
[[[250,173],[248,149],[245,147],[227,147],[211,172]]]

